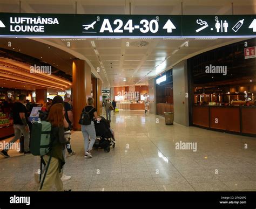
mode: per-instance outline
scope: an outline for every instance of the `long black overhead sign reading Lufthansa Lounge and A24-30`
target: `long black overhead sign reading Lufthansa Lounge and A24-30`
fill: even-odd
[[[1,37],[255,37],[256,15],[0,13]]]

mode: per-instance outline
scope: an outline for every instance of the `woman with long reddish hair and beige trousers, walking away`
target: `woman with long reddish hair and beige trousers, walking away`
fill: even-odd
[[[41,183],[42,188],[39,188],[38,191],[50,191],[53,184],[55,184],[57,191],[64,191],[61,180],[61,170],[65,164],[63,149],[65,149],[66,144],[66,139],[64,137],[64,115],[65,109],[61,103],[56,103],[51,107],[47,120],[52,126],[52,147],[50,152],[43,156],[46,166],[49,163],[49,168],[45,171],[46,176],[44,181]]]

